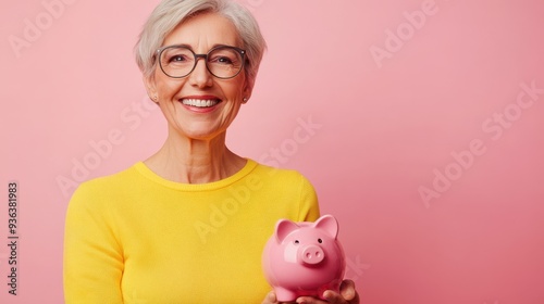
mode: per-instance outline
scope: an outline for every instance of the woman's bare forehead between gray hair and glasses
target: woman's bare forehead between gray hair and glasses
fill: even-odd
[[[188,45],[195,51],[208,51],[215,45],[242,47],[234,24],[217,13],[195,15],[180,25],[164,39],[164,46]]]

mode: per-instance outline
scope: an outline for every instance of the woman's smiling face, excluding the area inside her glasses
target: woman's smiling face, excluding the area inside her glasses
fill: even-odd
[[[206,54],[218,46],[243,47],[234,25],[214,13],[199,14],[178,25],[163,42],[173,45],[186,46],[196,54]],[[197,140],[224,134],[243,99],[251,94],[244,69],[233,78],[221,79],[210,74],[203,59],[184,78],[169,77],[157,65],[153,77],[145,83],[151,99],[157,97],[170,131]]]

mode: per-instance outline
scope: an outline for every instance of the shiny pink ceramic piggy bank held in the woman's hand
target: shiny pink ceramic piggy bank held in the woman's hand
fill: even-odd
[[[262,253],[262,268],[277,301],[310,295],[322,300],[325,290],[338,292],[346,262],[336,239],[338,221],[323,215],[316,223],[281,219]]]

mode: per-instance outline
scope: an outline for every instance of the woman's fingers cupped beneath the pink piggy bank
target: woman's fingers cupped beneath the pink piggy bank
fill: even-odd
[[[299,304],[359,304],[359,294],[357,290],[355,290],[355,283],[351,280],[344,280],[341,284],[339,293],[336,293],[332,290],[327,290],[323,293],[323,297],[326,299],[326,302],[320,299],[316,299],[312,296],[300,296],[297,299],[297,303]],[[279,304],[275,293],[273,291],[269,292],[262,304]]]

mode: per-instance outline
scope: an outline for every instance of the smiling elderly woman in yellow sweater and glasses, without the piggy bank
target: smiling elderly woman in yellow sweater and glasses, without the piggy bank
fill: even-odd
[[[225,145],[264,48],[256,21],[235,2],[164,0],[152,12],[135,50],[168,138],[144,162],[74,193],[66,303],[276,302],[261,270],[263,245],[277,219],[314,220],[319,207],[300,174]],[[325,297],[359,302],[351,281]]]

